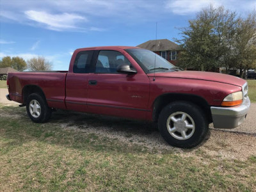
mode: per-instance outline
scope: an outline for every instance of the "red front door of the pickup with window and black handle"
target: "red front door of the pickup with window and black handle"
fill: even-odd
[[[131,62],[119,51],[99,51],[95,73],[88,75],[88,111],[105,115],[145,118],[149,79],[145,73],[121,74],[116,67]]]

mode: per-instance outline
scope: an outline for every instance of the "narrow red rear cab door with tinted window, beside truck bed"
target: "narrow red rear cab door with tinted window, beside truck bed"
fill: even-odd
[[[73,72],[66,78],[66,106],[68,110],[87,111],[88,74],[93,71],[93,51],[81,51],[76,55]]]

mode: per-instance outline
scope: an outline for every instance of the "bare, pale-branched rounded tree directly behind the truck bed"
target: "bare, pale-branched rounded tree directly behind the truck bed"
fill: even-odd
[[[37,58],[31,58],[27,61],[28,69],[31,71],[37,70],[51,70],[52,65],[43,56],[38,56]]]

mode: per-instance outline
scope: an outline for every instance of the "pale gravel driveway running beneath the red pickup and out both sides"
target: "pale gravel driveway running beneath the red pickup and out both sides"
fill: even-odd
[[[0,102],[4,105],[19,106],[17,102],[6,99],[5,88],[0,88]],[[90,115],[86,113],[76,113],[74,111],[58,110],[52,115],[51,123],[58,122],[63,129],[72,129],[79,132],[99,134],[119,140],[128,145],[143,145],[146,148],[158,148],[159,150],[175,150],[182,156],[197,158],[198,148],[200,152],[214,158],[246,160],[248,157],[256,156],[256,103],[253,103],[246,121],[236,129],[213,129],[208,132],[207,138],[201,145],[190,150],[173,148],[163,140],[155,125],[148,122],[137,122],[122,120],[119,118],[109,118],[108,116]],[[4,114],[0,114],[4,116]],[[10,116],[10,114],[8,114]],[[24,111],[24,116],[18,118],[28,118]],[[17,115],[13,114],[13,118]],[[244,134],[243,132],[246,132]],[[247,134],[249,133],[249,134]],[[201,161],[198,159],[198,161]]]

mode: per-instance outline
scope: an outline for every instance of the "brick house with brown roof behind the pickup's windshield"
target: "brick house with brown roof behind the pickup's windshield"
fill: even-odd
[[[137,47],[156,52],[156,54],[162,56],[173,65],[177,65],[177,56],[179,54],[180,47],[178,44],[175,44],[166,38],[149,40],[143,44],[137,45]]]

